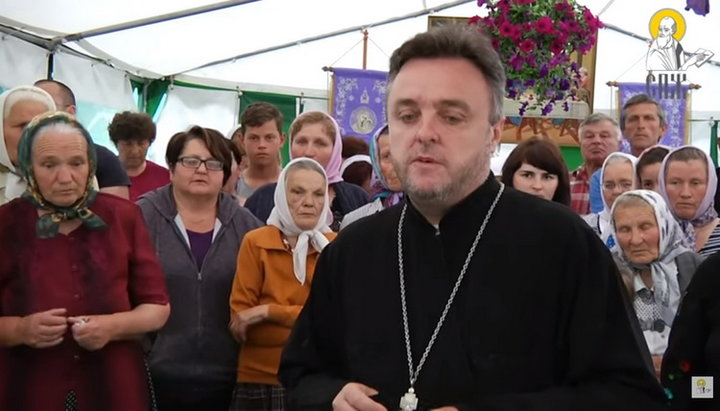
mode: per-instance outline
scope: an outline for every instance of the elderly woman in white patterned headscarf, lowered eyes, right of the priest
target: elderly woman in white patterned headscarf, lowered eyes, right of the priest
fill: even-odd
[[[629,268],[621,273],[659,377],[680,298],[702,258],[683,245],[680,225],[654,191],[621,194],[611,214],[611,251]]]

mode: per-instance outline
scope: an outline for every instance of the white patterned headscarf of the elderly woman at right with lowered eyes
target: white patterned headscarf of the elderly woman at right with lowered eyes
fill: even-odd
[[[657,301],[661,303],[662,307],[663,321],[670,325],[675,315],[674,310],[671,308],[677,309],[680,299],[680,285],[677,278],[678,268],[675,263],[675,258],[680,254],[693,250],[684,245],[685,234],[682,228],[680,228],[680,224],[678,224],[673,217],[670,208],[662,196],[654,191],[632,190],[622,193],[615,200],[611,214],[615,215],[617,204],[621,203],[622,199],[630,196],[638,197],[645,201],[655,213],[655,220],[657,220],[658,232],[660,233],[658,257],[649,264],[641,265],[631,263],[619,244],[613,246],[611,251],[628,266],[636,270],[650,268],[654,294],[657,296]],[[613,219],[612,231],[615,237],[617,237],[616,229],[615,220]]]

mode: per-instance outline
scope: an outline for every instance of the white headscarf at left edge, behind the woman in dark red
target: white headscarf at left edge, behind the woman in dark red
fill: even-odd
[[[3,126],[5,117],[10,113],[10,109],[12,108],[11,106],[6,107],[6,105],[11,104],[14,106],[20,101],[28,100],[45,104],[48,111],[55,111],[55,102],[50,94],[38,87],[17,86],[0,94],[0,165],[10,171],[9,173],[0,171],[0,174],[4,175],[6,201],[20,197],[27,188],[27,183],[20,177],[20,170],[16,169],[12,161],[10,161],[10,154],[5,145]],[[0,175],[0,188],[3,188],[2,175]],[[2,198],[0,198],[0,204],[2,201]]]

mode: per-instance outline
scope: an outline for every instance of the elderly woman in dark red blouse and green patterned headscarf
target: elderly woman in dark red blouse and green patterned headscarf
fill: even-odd
[[[140,210],[92,187],[95,150],[70,115],[22,134],[21,198],[0,207],[0,409],[147,410],[138,340],[170,308]]]

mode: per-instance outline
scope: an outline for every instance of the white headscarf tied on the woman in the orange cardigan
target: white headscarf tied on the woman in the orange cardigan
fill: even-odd
[[[292,218],[290,207],[287,203],[285,190],[288,172],[299,169],[297,166],[294,166],[298,163],[311,165],[313,170],[321,173],[325,180],[325,203],[323,204],[323,209],[317,224],[315,224],[312,230],[302,230],[295,224],[295,220]],[[297,244],[293,249],[293,271],[295,272],[295,278],[298,279],[300,284],[305,284],[308,244],[312,245],[317,251],[322,251],[329,243],[323,233],[332,232],[327,223],[329,219],[332,219],[330,199],[327,192],[327,181],[327,175],[320,163],[310,158],[300,157],[292,160],[283,168],[280,177],[278,177],[277,186],[275,187],[275,207],[270,212],[267,223],[268,225],[274,225],[279,228],[285,235],[298,236]]]

